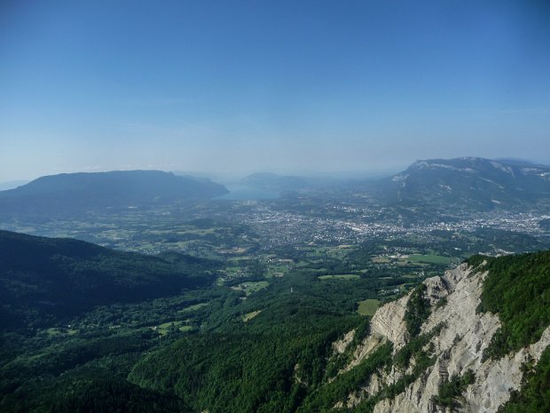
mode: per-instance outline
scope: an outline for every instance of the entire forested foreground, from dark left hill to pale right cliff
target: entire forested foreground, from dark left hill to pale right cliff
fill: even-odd
[[[359,295],[401,281],[356,296],[297,272],[247,295],[178,254],[6,232],[0,251],[3,411],[550,408],[550,251],[475,256],[372,319]]]

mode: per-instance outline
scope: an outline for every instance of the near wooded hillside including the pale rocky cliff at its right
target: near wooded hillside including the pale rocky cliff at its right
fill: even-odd
[[[550,251],[475,257],[338,339],[334,317],[303,315],[310,325],[295,334],[282,326],[298,319],[281,313],[275,335],[258,320],[249,334],[185,338],[129,378],[213,413],[548,411],[548,271]]]

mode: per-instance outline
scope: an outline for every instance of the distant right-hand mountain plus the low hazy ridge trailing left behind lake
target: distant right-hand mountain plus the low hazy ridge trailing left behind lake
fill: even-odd
[[[420,160],[405,171],[376,179],[319,179],[255,173],[243,182],[279,193],[343,189],[367,194],[375,203],[429,209],[529,209],[547,207],[550,200],[550,166],[518,159]]]

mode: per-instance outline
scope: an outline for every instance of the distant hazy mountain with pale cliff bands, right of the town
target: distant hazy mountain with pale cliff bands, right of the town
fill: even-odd
[[[550,166],[474,157],[417,161],[378,188],[390,202],[404,205],[532,207],[550,199]]]

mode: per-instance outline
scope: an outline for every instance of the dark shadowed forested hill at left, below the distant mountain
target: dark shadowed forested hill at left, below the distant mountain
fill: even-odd
[[[93,306],[166,297],[211,282],[216,263],[107,250],[0,231],[0,327],[69,318]]]

